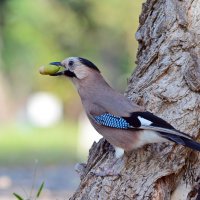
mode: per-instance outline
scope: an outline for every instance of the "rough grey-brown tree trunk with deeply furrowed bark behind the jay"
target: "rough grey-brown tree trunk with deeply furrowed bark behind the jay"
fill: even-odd
[[[127,97],[197,139],[200,135],[200,0],[147,0],[143,4],[137,68]],[[173,143],[133,151],[115,167],[121,177],[96,177],[91,170],[111,162],[113,151],[94,143],[87,164],[79,165],[81,183],[73,199],[196,199],[198,152]]]

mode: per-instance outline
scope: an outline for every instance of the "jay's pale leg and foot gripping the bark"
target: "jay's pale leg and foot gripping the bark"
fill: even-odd
[[[113,162],[111,162],[109,164],[109,166],[107,168],[103,168],[101,169],[100,172],[93,172],[94,175],[96,176],[120,176],[119,171],[117,172],[115,170],[115,164],[123,158],[123,154],[124,154],[124,150],[119,148],[119,147],[115,147],[115,158],[113,160]]]

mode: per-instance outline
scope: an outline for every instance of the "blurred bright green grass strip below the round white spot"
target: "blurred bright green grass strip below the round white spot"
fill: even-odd
[[[0,165],[72,162],[76,159],[77,126],[59,123],[49,128],[0,125]]]

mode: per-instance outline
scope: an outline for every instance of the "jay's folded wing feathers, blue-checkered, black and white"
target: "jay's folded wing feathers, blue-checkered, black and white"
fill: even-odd
[[[119,117],[110,113],[93,116],[93,120],[103,126],[117,129],[152,130],[165,137],[174,135],[192,139],[189,135],[176,130],[165,120],[150,112],[133,112],[129,117]],[[180,141],[179,141],[180,143]]]

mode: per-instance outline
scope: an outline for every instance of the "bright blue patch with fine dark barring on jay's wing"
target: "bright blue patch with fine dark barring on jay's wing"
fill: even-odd
[[[112,128],[128,129],[131,127],[130,124],[125,119],[109,113],[102,114],[99,116],[94,116],[94,120],[98,124]]]

